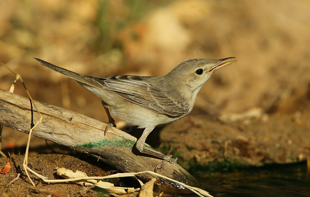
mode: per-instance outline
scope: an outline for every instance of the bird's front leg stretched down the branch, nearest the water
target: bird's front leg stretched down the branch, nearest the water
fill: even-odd
[[[151,154],[151,155],[154,155],[154,156],[159,157],[161,159],[164,159],[161,163],[159,163],[156,166],[156,168],[155,168],[155,171],[156,171],[158,168],[160,168],[162,165],[166,164],[167,162],[169,162],[169,163],[177,162],[177,158],[173,159],[172,154],[171,155],[164,155],[164,154],[160,154],[160,153],[157,153],[155,151],[152,151],[152,150],[144,149],[144,142],[146,140],[146,137],[151,133],[151,131],[154,128],[155,127],[147,127],[144,129],[142,136],[138,139],[138,141],[136,143],[136,148],[142,153]]]

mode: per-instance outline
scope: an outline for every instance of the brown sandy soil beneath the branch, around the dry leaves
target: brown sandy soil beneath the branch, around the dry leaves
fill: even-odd
[[[94,167],[94,165],[64,154],[32,154],[29,156],[28,166],[49,179],[61,179],[56,173],[56,169],[60,166],[67,169],[83,170],[90,176],[97,176],[99,174],[106,175],[106,171],[99,167]],[[5,162],[9,161],[11,163],[11,170],[2,177],[1,180],[1,196],[47,196],[48,193],[38,192],[36,189],[47,189],[51,191],[57,191],[62,194],[69,194],[70,196],[80,195],[80,196],[94,196],[95,192],[93,190],[85,190],[85,187],[74,184],[74,183],[58,183],[58,184],[48,184],[40,181],[37,177],[30,173],[30,177],[34,181],[36,188],[34,188],[28,177],[26,176],[23,168],[24,155],[11,154],[10,158],[1,158],[1,166]],[[65,167],[66,166],[66,167]],[[7,186],[12,179],[16,177],[16,174],[20,173],[20,178]],[[52,194],[52,193],[50,193]]]

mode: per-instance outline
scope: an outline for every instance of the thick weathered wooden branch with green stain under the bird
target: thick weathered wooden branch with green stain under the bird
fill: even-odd
[[[126,132],[110,128],[104,136],[103,128],[106,127],[106,123],[54,105],[34,102],[43,114],[42,123],[32,132],[35,136],[69,146],[74,150],[98,155],[104,162],[122,172],[154,171],[161,161],[139,153],[134,146],[137,139]],[[0,89],[0,124],[28,133],[38,119],[38,112],[31,105],[29,98]],[[167,163],[157,172],[190,186],[199,185],[198,181],[177,163]],[[148,181],[152,176],[142,174],[139,178]],[[160,182],[161,190],[172,193],[189,192],[180,190],[182,186],[163,180]]]

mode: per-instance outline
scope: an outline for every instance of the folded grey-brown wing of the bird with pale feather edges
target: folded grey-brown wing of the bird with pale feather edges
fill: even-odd
[[[188,105],[173,99],[169,92],[162,91],[163,86],[155,87],[146,80],[142,80],[140,76],[114,75],[93,77],[93,80],[111,92],[148,110],[169,116],[181,116],[188,112]]]

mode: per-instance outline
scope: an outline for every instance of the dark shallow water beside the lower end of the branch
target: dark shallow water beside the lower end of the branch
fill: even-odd
[[[305,162],[250,167],[241,172],[203,175],[199,181],[213,196],[310,196]]]

